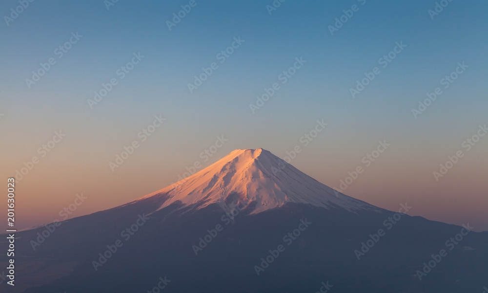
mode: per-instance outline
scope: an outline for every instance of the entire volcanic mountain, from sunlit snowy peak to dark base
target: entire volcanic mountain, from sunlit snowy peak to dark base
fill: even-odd
[[[16,233],[17,285],[0,289],[483,291],[488,233],[410,217],[409,208],[336,195],[269,151],[238,149],[122,206]]]

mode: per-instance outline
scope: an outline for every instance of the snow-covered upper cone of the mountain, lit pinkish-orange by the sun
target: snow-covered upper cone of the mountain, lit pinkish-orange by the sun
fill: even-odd
[[[211,203],[222,204],[230,196],[235,204],[247,206],[253,202],[253,213],[286,202],[341,207],[351,212],[381,210],[335,192],[262,148],[236,149],[200,172],[139,200],[161,195],[168,199],[160,209],[177,201],[203,208]]]

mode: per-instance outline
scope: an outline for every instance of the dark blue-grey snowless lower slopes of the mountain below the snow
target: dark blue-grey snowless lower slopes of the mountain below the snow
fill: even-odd
[[[234,220],[217,205],[198,211],[171,205],[125,239],[121,232],[137,225],[138,214],[148,213],[154,201],[68,220],[36,251],[29,241],[44,228],[18,233],[15,290],[147,292],[166,283],[161,292],[313,293],[328,282],[329,292],[337,293],[460,293],[482,292],[488,284],[488,233],[470,232],[449,250],[446,241],[462,227],[407,215],[385,225],[394,213],[354,214],[288,203],[256,215],[243,210]],[[196,249],[199,238],[213,229],[215,237]],[[354,251],[370,234],[376,238],[379,229],[385,235],[358,260]],[[300,235],[284,238],[294,230]],[[122,246],[95,271],[92,261],[118,239]],[[442,249],[447,256],[419,280],[416,271]],[[269,250],[279,256],[271,257]],[[266,257],[272,262],[258,275],[255,266]],[[160,277],[166,277],[164,283]],[[6,284],[0,286],[3,292]]]

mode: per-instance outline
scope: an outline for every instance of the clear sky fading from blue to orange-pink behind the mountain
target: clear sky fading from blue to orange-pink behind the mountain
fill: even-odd
[[[488,231],[486,1],[24,1],[0,4],[19,229],[262,147],[357,199]]]

